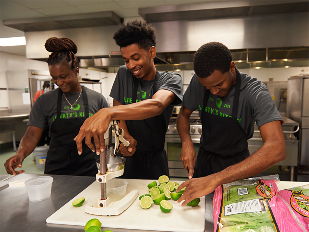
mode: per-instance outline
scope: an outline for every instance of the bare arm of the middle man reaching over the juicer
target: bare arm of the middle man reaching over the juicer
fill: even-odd
[[[142,120],[160,115],[163,110],[170,105],[176,95],[167,89],[159,89],[151,99],[129,105],[114,106],[99,110],[90,118],[87,118],[76,136],[78,154],[83,152],[82,140],[97,154],[104,150],[104,133],[108,129],[109,122],[112,120]],[[94,138],[95,147],[91,143]]]

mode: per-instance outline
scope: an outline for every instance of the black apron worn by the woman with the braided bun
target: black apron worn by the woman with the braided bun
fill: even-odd
[[[44,174],[69,176],[95,176],[98,173],[95,160],[98,156],[82,141],[83,153],[78,155],[76,142],[80,127],[89,117],[87,93],[82,86],[85,115],[80,118],[60,119],[62,90],[58,88],[57,118],[50,127],[50,143]]]

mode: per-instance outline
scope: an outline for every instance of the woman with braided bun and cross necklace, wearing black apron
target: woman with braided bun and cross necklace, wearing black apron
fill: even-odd
[[[76,44],[67,38],[49,38],[45,43],[52,52],[47,60],[49,73],[59,88],[37,98],[30,112],[28,128],[20,141],[18,151],[4,164],[9,174],[24,171],[23,160],[32,153],[42,132],[50,129],[49,151],[44,174],[95,176],[98,172],[95,150],[91,151],[83,141],[83,152],[78,154],[73,140],[83,122],[102,108],[108,107],[104,96],[80,85]]]

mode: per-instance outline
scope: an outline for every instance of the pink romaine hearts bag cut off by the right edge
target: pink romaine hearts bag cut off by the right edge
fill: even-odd
[[[281,190],[280,196],[291,207],[306,231],[309,231],[309,184]]]

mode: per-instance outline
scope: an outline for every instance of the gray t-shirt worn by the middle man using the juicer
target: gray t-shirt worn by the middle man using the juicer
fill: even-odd
[[[110,97],[116,99],[123,105],[132,103],[133,91],[133,73],[124,65],[119,68],[116,79],[114,81]],[[138,85],[138,92],[136,101],[140,102],[145,99],[151,99],[154,95],[152,87],[155,80],[145,81],[140,80]],[[174,106],[179,106],[182,102],[182,78],[178,73],[163,73],[158,80],[157,91],[159,89],[167,89],[175,93],[174,101],[163,110],[163,116],[166,126],[171,118]]]

